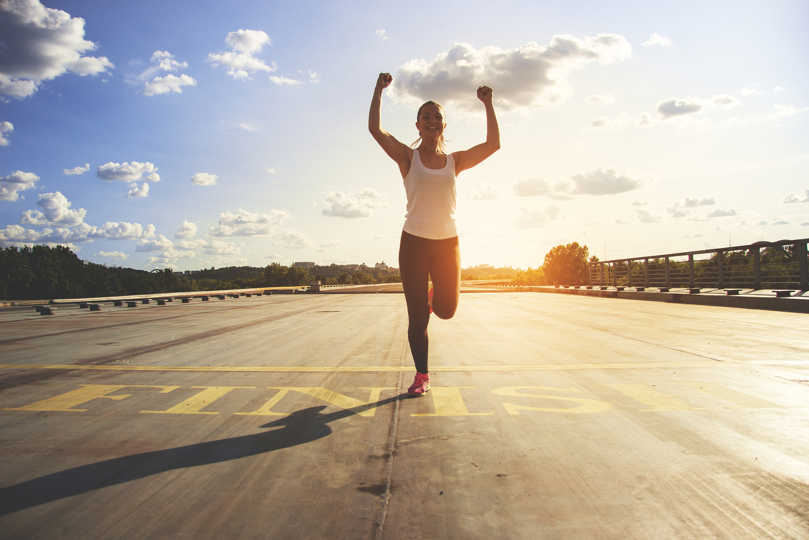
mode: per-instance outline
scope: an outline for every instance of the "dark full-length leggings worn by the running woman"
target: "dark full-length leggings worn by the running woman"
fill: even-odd
[[[428,282],[433,282],[433,313],[441,319],[451,319],[458,309],[460,297],[460,249],[458,236],[430,240],[402,231],[399,244],[399,271],[407,302],[410,352],[416,371],[429,369],[427,356],[430,340]]]

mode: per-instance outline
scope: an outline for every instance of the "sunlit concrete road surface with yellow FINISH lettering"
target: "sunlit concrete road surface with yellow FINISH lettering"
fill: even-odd
[[[0,538],[809,538],[809,316],[470,292],[0,313]]]

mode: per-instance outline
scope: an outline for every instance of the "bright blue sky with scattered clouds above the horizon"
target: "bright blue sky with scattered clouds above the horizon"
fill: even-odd
[[[458,178],[464,266],[806,238],[807,20],[809,2],[0,0],[0,245],[398,266],[404,188],[366,128],[380,71],[383,126],[412,142],[415,104],[441,101],[451,151],[484,140],[493,87],[502,149]]]

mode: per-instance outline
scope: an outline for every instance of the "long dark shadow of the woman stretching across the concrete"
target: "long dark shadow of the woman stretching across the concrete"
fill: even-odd
[[[116,457],[46,474],[27,482],[0,488],[0,516],[167,470],[210,465],[310,443],[332,434],[332,428],[328,423],[395,402],[401,397],[383,399],[353,409],[338,410],[328,415],[320,414],[320,411],[326,408],[324,405],[309,407],[296,410],[289,416],[261,426],[283,426],[270,432]]]

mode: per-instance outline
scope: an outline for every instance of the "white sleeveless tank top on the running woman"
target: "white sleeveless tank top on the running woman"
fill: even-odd
[[[404,232],[430,240],[458,236],[455,227],[455,160],[447,154],[444,168],[426,168],[418,151],[413,150],[413,163],[404,176],[407,193],[407,215]]]

